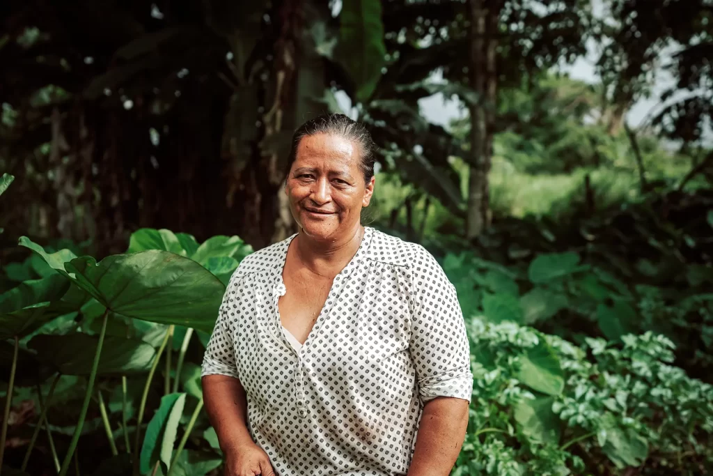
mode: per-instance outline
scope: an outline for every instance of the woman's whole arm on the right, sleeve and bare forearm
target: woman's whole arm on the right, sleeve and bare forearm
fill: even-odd
[[[424,407],[408,476],[446,476],[461,450],[473,392],[471,357],[456,288],[423,250],[411,268],[409,350]]]

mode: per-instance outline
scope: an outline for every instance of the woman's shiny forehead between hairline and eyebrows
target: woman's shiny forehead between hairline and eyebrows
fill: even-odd
[[[336,134],[318,133],[303,137],[297,146],[295,165],[316,166],[324,163],[359,167],[359,147]]]

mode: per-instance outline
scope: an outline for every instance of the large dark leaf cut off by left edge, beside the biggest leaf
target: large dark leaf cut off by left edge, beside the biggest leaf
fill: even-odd
[[[61,301],[71,283],[53,273],[46,278],[24,281],[0,295],[0,339],[23,337],[58,315],[77,308]]]

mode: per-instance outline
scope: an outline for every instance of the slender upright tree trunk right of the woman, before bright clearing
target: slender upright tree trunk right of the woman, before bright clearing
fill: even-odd
[[[483,233],[490,224],[488,173],[493,151],[493,122],[497,94],[496,40],[501,2],[471,0],[471,87],[477,102],[471,104],[471,158],[468,177],[466,238]]]

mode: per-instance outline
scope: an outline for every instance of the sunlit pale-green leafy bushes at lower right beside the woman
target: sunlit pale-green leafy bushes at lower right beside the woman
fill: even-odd
[[[670,365],[670,340],[645,333],[578,347],[477,317],[468,330],[473,402],[453,474],[567,475],[644,462],[686,474],[675,462],[683,451],[691,468],[713,462],[713,387]],[[538,384],[558,373],[561,386],[533,388],[533,373],[543,375]]]

